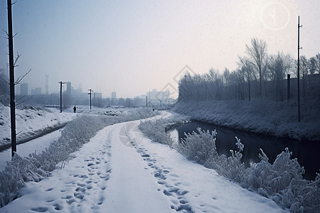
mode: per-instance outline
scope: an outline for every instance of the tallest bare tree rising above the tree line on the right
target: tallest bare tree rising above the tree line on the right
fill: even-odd
[[[251,45],[245,45],[246,52],[250,55],[252,59],[252,64],[259,73],[260,87],[259,96],[262,96],[262,67],[264,65],[265,59],[267,58],[267,43],[265,40],[258,40],[257,38],[251,38]]]

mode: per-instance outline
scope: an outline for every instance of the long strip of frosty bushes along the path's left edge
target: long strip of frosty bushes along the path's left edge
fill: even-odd
[[[82,144],[89,142],[90,138],[105,126],[144,119],[156,114],[159,113],[154,113],[151,109],[138,108],[122,116],[77,116],[65,126],[58,141],[50,143],[45,151],[31,153],[25,158],[15,153],[14,159],[0,172],[0,207],[16,198],[23,182],[38,182],[48,177],[50,171],[60,162],[63,168],[63,164],[72,158],[71,154]]]

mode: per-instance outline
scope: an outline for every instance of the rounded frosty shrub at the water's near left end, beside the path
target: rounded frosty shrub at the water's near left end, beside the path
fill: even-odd
[[[198,133],[194,131],[193,133],[185,133],[186,139],[182,139],[181,143],[177,144],[176,149],[186,158],[203,164],[208,160],[209,156],[217,155],[215,148],[217,132],[201,131],[201,128],[197,130]]]

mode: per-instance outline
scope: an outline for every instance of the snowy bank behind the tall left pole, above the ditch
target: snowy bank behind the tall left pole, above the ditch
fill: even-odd
[[[16,109],[17,143],[59,129],[75,118],[71,112],[60,113],[57,109],[21,107]],[[10,107],[0,104],[0,150],[11,144]]]

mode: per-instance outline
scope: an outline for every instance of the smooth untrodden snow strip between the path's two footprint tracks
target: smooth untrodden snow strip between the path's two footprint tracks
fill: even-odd
[[[154,178],[146,170],[146,163],[132,147],[127,133],[138,122],[116,125],[112,135],[112,174],[107,182],[105,212],[169,212],[164,196],[157,192]]]

